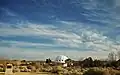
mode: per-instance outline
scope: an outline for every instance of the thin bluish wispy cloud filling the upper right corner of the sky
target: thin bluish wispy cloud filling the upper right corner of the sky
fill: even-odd
[[[99,0],[75,0],[72,3],[74,3],[76,7],[82,7],[88,11],[80,14],[84,15],[89,21],[108,24],[113,27],[119,26],[120,24],[120,0],[112,0],[110,2],[107,0],[102,2]]]

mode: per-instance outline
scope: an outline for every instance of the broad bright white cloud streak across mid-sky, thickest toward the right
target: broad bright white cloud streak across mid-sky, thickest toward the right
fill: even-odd
[[[69,22],[64,22],[65,24],[69,24]],[[70,22],[71,24],[71,22]],[[79,24],[79,23],[78,23]],[[74,24],[73,24],[74,25]],[[77,24],[76,24],[77,25]],[[74,26],[76,26],[74,25]],[[69,26],[70,27],[70,26]],[[80,26],[81,27],[81,26]],[[65,30],[59,30],[57,27],[52,25],[35,25],[35,24],[28,24],[28,26],[23,27],[20,26],[18,28],[12,28],[12,27],[2,27],[0,28],[0,34],[1,36],[44,36],[44,37],[51,37],[56,43],[59,45],[63,44],[64,46],[68,47],[77,47],[79,48],[81,43],[84,42],[92,42],[92,43],[85,43],[86,47],[94,46],[101,48],[107,47],[106,50],[109,51],[109,45],[112,45],[113,42],[108,39],[108,37],[103,36],[96,30],[92,29],[86,29],[86,28],[80,28],[78,27],[75,32],[69,32]],[[71,30],[74,28],[71,28]],[[79,34],[80,33],[80,34]],[[29,44],[30,45],[30,44]],[[32,44],[31,44],[32,45]]]

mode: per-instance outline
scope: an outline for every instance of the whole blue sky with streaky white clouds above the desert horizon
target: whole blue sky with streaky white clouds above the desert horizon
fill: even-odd
[[[120,50],[120,0],[0,0],[0,57],[107,58]]]

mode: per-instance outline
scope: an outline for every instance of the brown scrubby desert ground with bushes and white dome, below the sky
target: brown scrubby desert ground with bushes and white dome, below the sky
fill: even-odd
[[[12,75],[120,75],[120,60],[93,60],[88,57],[75,61],[57,56],[55,61],[0,60],[0,75],[7,75],[11,64]]]

